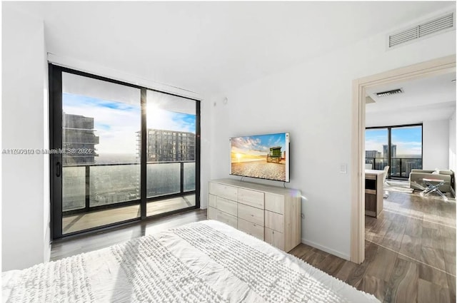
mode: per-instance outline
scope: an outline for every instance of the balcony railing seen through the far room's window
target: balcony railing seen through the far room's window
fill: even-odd
[[[366,168],[372,170],[383,170],[388,165],[387,158],[365,158]],[[371,165],[371,166],[370,166]],[[394,178],[409,178],[411,170],[422,169],[421,158],[391,158],[391,165],[388,175]]]

